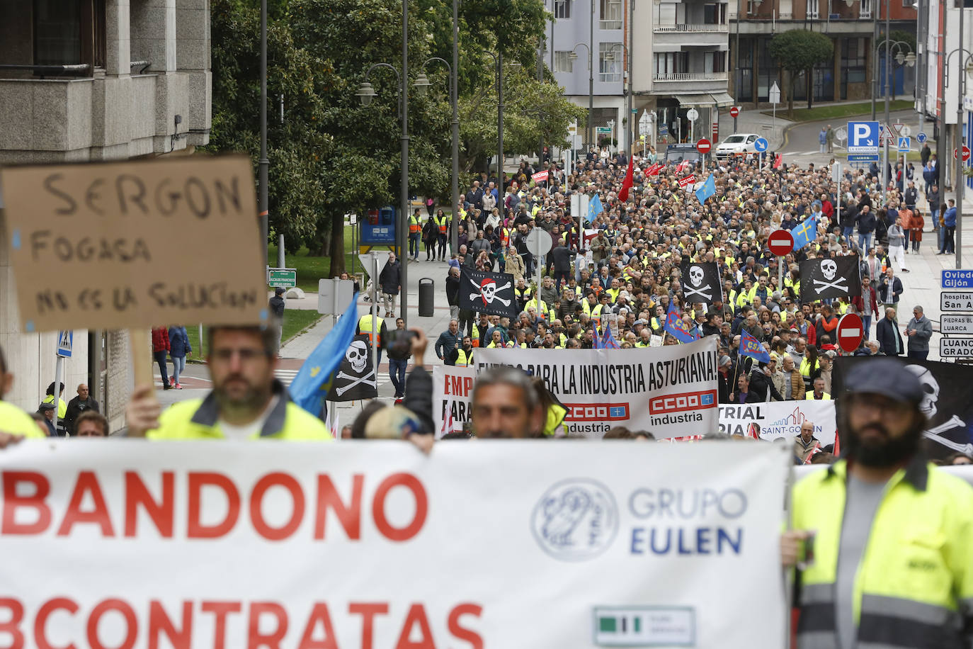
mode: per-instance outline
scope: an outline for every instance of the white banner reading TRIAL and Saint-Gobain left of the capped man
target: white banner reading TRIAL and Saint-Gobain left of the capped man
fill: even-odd
[[[759,426],[760,439],[793,440],[801,424],[814,424],[814,437],[822,447],[835,442],[834,401],[769,401],[759,404],[720,404],[720,432],[747,435],[750,424]]]

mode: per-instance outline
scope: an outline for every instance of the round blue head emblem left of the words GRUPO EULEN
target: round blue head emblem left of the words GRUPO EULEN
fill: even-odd
[[[608,487],[570,478],[544,493],[534,506],[530,528],[541,549],[555,559],[593,559],[618,534],[618,506]]]

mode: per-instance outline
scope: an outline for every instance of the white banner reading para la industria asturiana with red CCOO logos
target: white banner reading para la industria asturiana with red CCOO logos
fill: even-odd
[[[716,432],[716,337],[632,349],[485,349],[478,372],[512,365],[542,377],[567,408],[568,434],[601,437],[614,426],[656,438]]]

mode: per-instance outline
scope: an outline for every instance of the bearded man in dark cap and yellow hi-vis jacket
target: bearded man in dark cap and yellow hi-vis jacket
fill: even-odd
[[[859,362],[845,385],[843,458],[794,487],[781,539],[784,565],[809,559],[797,646],[969,647],[973,487],[922,456],[922,387],[904,365]]]

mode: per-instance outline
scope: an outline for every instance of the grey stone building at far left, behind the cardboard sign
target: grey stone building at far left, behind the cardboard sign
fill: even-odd
[[[209,51],[209,0],[0,0],[0,165],[191,153],[209,140]],[[54,380],[56,332],[19,330],[4,219],[0,193],[5,398],[29,412]],[[131,352],[126,332],[75,330],[65,401],[88,383],[121,427]]]

